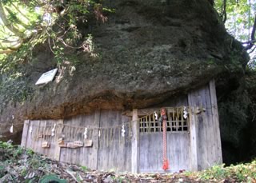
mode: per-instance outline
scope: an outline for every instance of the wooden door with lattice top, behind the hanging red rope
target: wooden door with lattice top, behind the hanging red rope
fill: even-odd
[[[190,167],[189,116],[183,117],[184,107],[166,108],[166,146],[170,169],[176,172]],[[160,116],[160,113],[157,114]],[[139,126],[139,172],[163,172],[162,123],[154,113],[141,117]]]

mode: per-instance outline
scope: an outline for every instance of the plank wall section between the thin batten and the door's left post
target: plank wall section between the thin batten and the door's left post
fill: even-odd
[[[126,131],[121,135],[122,124],[131,121],[121,111],[102,110],[100,127],[104,129],[99,140],[98,169],[114,169],[115,171],[131,171],[131,141]],[[113,131],[110,128],[113,128]],[[127,130],[127,128],[126,128]],[[112,131],[112,132],[111,132]],[[113,133],[110,142],[106,142],[106,133]]]

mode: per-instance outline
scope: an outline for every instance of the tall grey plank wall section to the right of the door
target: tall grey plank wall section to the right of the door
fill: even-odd
[[[194,144],[191,143],[191,151],[196,152],[197,157],[191,157],[197,162],[194,170],[207,169],[212,165],[222,163],[222,148],[218,121],[218,105],[214,81],[209,85],[194,90],[188,94],[190,106],[194,106],[191,122],[194,125]],[[204,108],[205,111],[199,113],[197,108]],[[191,125],[191,124],[190,124]],[[192,137],[191,137],[192,138]],[[192,139],[193,140],[193,139]],[[192,168],[191,168],[192,169]]]

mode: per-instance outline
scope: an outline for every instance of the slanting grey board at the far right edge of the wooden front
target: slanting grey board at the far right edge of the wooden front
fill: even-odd
[[[212,105],[212,113],[213,113],[213,128],[214,128],[214,136],[216,142],[216,163],[222,163],[222,144],[221,144],[221,134],[219,128],[218,121],[218,104],[217,104],[217,96],[216,96],[216,88],[214,79],[210,81],[210,102]]]

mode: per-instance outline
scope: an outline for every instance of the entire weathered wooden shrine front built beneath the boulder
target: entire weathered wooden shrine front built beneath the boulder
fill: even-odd
[[[175,97],[166,109],[166,155],[178,172],[222,163],[214,81]],[[94,113],[59,120],[27,120],[22,146],[51,159],[118,172],[162,172],[160,108]]]

